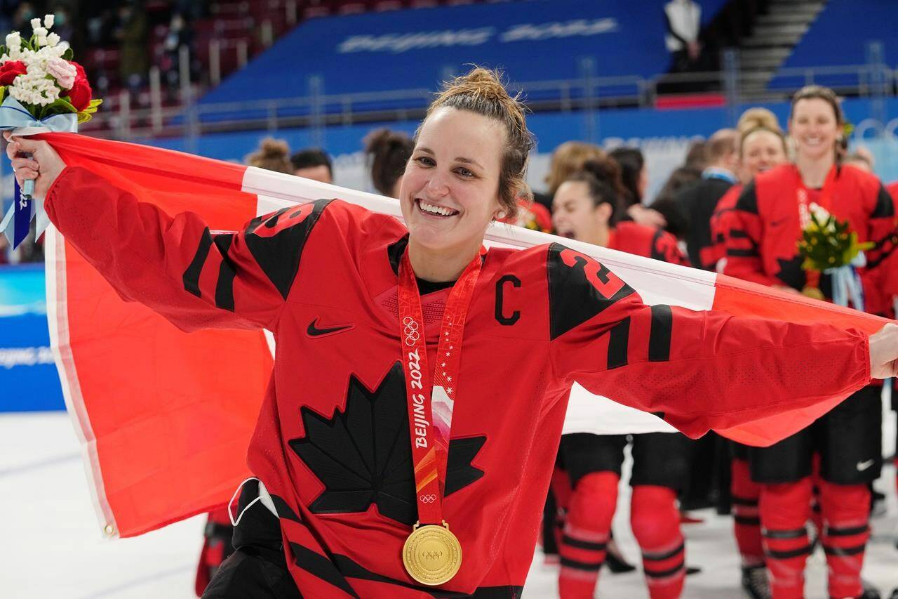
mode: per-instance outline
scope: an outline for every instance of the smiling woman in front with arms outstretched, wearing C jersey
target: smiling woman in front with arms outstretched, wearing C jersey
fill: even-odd
[[[894,375],[898,326],[647,306],[559,244],[483,252],[532,147],[523,108],[475,69],[418,130],[404,226],[322,200],[213,232],[66,167],[46,141],[9,144],[17,179],[36,179],[124,298],[184,330],[277,340],[248,449],[258,479],[205,596],[519,596],[575,381],[698,436]]]

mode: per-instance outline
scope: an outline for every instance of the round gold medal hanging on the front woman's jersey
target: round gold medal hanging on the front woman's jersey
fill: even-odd
[[[402,546],[402,564],[409,577],[422,585],[442,585],[462,567],[462,543],[445,521],[442,526],[415,524]]]

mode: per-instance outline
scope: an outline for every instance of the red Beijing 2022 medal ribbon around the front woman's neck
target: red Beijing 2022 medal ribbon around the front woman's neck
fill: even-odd
[[[427,343],[421,296],[408,251],[399,267],[399,320],[402,367],[409,405],[409,437],[415,467],[415,496],[418,523],[443,523],[443,492],[449,431],[458,375],[462,364],[462,335],[474,286],[480,277],[481,255],[474,256],[453,285],[446,300],[436,364],[431,375],[427,368]]]

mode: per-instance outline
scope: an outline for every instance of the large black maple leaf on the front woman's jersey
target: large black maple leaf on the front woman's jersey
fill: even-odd
[[[346,407],[330,418],[303,407],[305,436],[290,447],[321,480],[324,490],[309,508],[315,514],[365,512],[405,524],[418,519],[409,441],[409,414],[401,362],[375,389],[349,377]],[[445,496],[481,478],[471,466],[487,437],[453,439],[446,463]]]

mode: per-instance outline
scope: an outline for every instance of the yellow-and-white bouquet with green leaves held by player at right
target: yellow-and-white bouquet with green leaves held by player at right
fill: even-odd
[[[841,306],[864,309],[864,296],[857,268],[867,264],[864,250],[872,243],[858,242],[858,234],[850,229],[847,220],[838,220],[815,203],[802,215],[804,228],[798,241],[798,251],[805,259],[801,267],[808,272],[832,275],[832,301]],[[823,299],[816,287],[804,290],[806,295]]]

